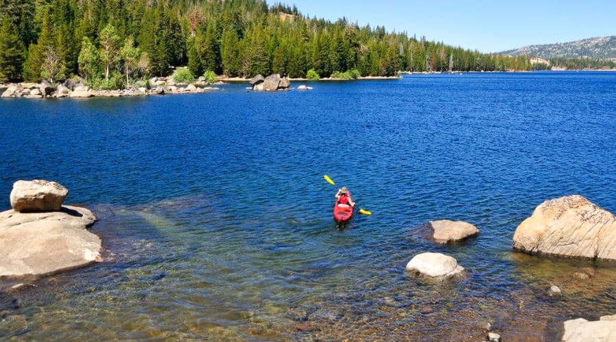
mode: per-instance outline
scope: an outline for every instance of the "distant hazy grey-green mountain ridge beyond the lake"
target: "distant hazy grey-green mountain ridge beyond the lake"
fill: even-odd
[[[616,59],[616,36],[587,38],[556,44],[529,45],[528,47],[502,51],[500,54],[532,55],[546,60],[552,57]]]

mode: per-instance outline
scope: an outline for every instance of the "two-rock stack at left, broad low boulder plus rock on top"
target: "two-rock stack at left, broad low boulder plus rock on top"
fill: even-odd
[[[92,211],[62,205],[68,190],[49,181],[17,181],[13,209],[0,213],[0,277],[42,276],[101,261],[101,239],[86,228]]]

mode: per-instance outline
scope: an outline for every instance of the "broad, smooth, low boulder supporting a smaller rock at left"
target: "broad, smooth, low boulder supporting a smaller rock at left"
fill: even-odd
[[[0,277],[40,276],[100,261],[101,239],[86,230],[94,221],[88,209],[70,206],[1,212]]]

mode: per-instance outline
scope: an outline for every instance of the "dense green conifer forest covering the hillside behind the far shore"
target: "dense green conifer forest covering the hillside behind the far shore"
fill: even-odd
[[[178,66],[194,77],[312,78],[532,67],[525,56],[309,18],[261,0],[0,0],[0,22],[2,82],[79,76],[92,88],[128,88]]]

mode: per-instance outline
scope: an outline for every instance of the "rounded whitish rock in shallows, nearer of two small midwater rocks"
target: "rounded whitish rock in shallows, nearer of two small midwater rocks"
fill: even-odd
[[[461,274],[464,267],[458,265],[453,257],[441,253],[427,252],[415,255],[407,263],[407,271],[416,272],[435,280],[446,280]]]

